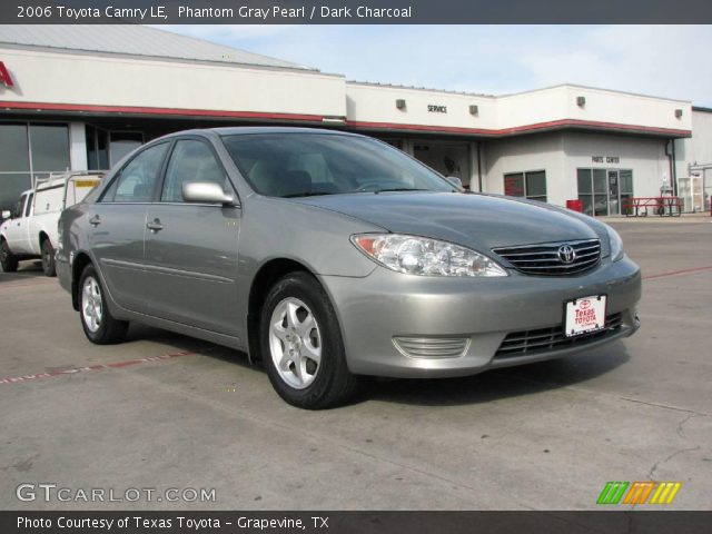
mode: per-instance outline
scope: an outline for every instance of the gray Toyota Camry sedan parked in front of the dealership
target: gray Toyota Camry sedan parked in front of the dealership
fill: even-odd
[[[92,343],[139,322],[263,362],[304,408],[367,376],[447,377],[633,334],[617,234],[551,205],[468,194],[363,136],[174,134],[60,219],[57,271]]]

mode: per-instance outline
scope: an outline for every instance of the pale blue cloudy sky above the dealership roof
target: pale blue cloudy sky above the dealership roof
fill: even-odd
[[[712,107],[712,26],[170,26],[349,80],[502,95],[586,86]]]

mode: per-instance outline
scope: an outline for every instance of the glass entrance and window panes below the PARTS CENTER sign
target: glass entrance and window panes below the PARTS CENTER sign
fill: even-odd
[[[578,199],[586,215],[621,215],[633,197],[631,169],[576,169],[576,179]]]

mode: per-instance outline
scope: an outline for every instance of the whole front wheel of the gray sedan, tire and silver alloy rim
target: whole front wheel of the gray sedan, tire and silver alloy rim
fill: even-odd
[[[329,408],[345,404],[358,390],[360,379],[346,365],[334,307],[306,273],[285,276],[267,295],[260,352],[273,387],[293,406]]]

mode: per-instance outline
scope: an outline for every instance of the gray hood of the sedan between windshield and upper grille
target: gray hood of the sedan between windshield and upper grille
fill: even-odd
[[[547,241],[603,238],[583,216],[546,204],[457,192],[382,192],[295,199],[397,234],[486,250]],[[592,219],[593,221],[593,219]]]

